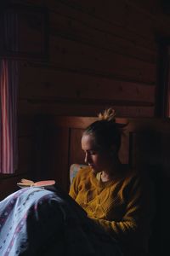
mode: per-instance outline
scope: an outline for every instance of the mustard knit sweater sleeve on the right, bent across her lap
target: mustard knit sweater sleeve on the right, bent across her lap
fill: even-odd
[[[131,239],[145,233],[150,233],[150,220],[153,215],[152,190],[149,183],[134,178],[127,189],[127,207],[120,221],[109,221],[93,218],[94,222],[101,225],[107,232],[114,235],[120,241]]]

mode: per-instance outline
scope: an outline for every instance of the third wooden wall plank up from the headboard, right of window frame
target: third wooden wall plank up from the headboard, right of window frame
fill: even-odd
[[[105,49],[79,44],[69,39],[51,38],[50,61],[58,67],[76,69],[139,82],[156,82],[156,65],[125,55],[108,53]]]

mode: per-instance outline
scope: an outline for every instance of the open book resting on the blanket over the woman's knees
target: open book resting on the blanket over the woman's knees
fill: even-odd
[[[17,185],[20,188],[26,188],[26,187],[47,187],[47,186],[52,186],[55,184],[54,180],[42,180],[38,181],[37,183],[34,183],[32,180],[22,178],[20,180],[20,183],[17,183]]]

